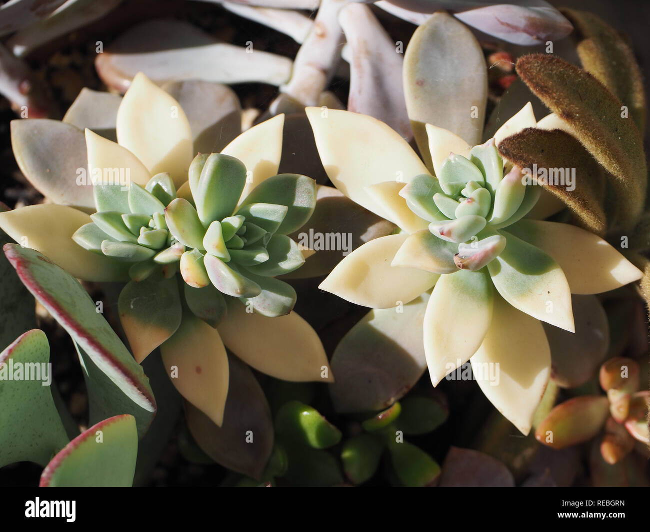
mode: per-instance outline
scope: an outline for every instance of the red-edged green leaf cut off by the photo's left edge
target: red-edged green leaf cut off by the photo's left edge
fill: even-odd
[[[68,443],[48,386],[48,362],[49,344],[39,329],[27,331],[0,353],[0,467],[25,460],[44,466]],[[29,368],[38,379],[25,376]]]

